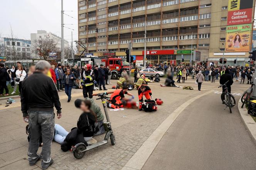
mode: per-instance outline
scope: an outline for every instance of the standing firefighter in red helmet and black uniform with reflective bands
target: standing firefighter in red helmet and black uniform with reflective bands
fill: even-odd
[[[93,70],[91,70],[91,65],[86,64],[85,66],[85,71],[83,73],[83,95],[84,98],[88,97],[93,98],[93,90],[94,90],[94,80],[95,80],[95,75]]]

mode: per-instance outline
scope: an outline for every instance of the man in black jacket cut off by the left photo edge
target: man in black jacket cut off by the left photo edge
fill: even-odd
[[[3,95],[3,89],[5,89],[5,96],[9,95],[9,90],[8,87],[6,85],[7,81],[10,81],[10,77],[9,74],[7,73],[6,68],[4,68],[4,64],[0,63],[0,96]],[[9,77],[9,79],[7,80],[7,78]]]

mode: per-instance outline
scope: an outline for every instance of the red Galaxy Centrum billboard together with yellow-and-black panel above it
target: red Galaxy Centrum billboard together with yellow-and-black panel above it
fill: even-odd
[[[227,25],[252,22],[253,0],[229,0]]]

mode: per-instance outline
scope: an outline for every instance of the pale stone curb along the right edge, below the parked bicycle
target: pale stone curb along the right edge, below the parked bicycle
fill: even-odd
[[[247,113],[247,109],[245,107],[241,108],[242,104],[243,103],[241,102],[241,98],[240,98],[238,102],[238,110],[239,110],[240,116],[244,122],[245,127],[249,131],[253,139],[253,142],[256,143],[256,122],[253,120],[251,115]]]

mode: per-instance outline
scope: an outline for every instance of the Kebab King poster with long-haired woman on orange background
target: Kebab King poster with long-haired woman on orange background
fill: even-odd
[[[252,24],[227,26],[226,52],[248,52]]]

